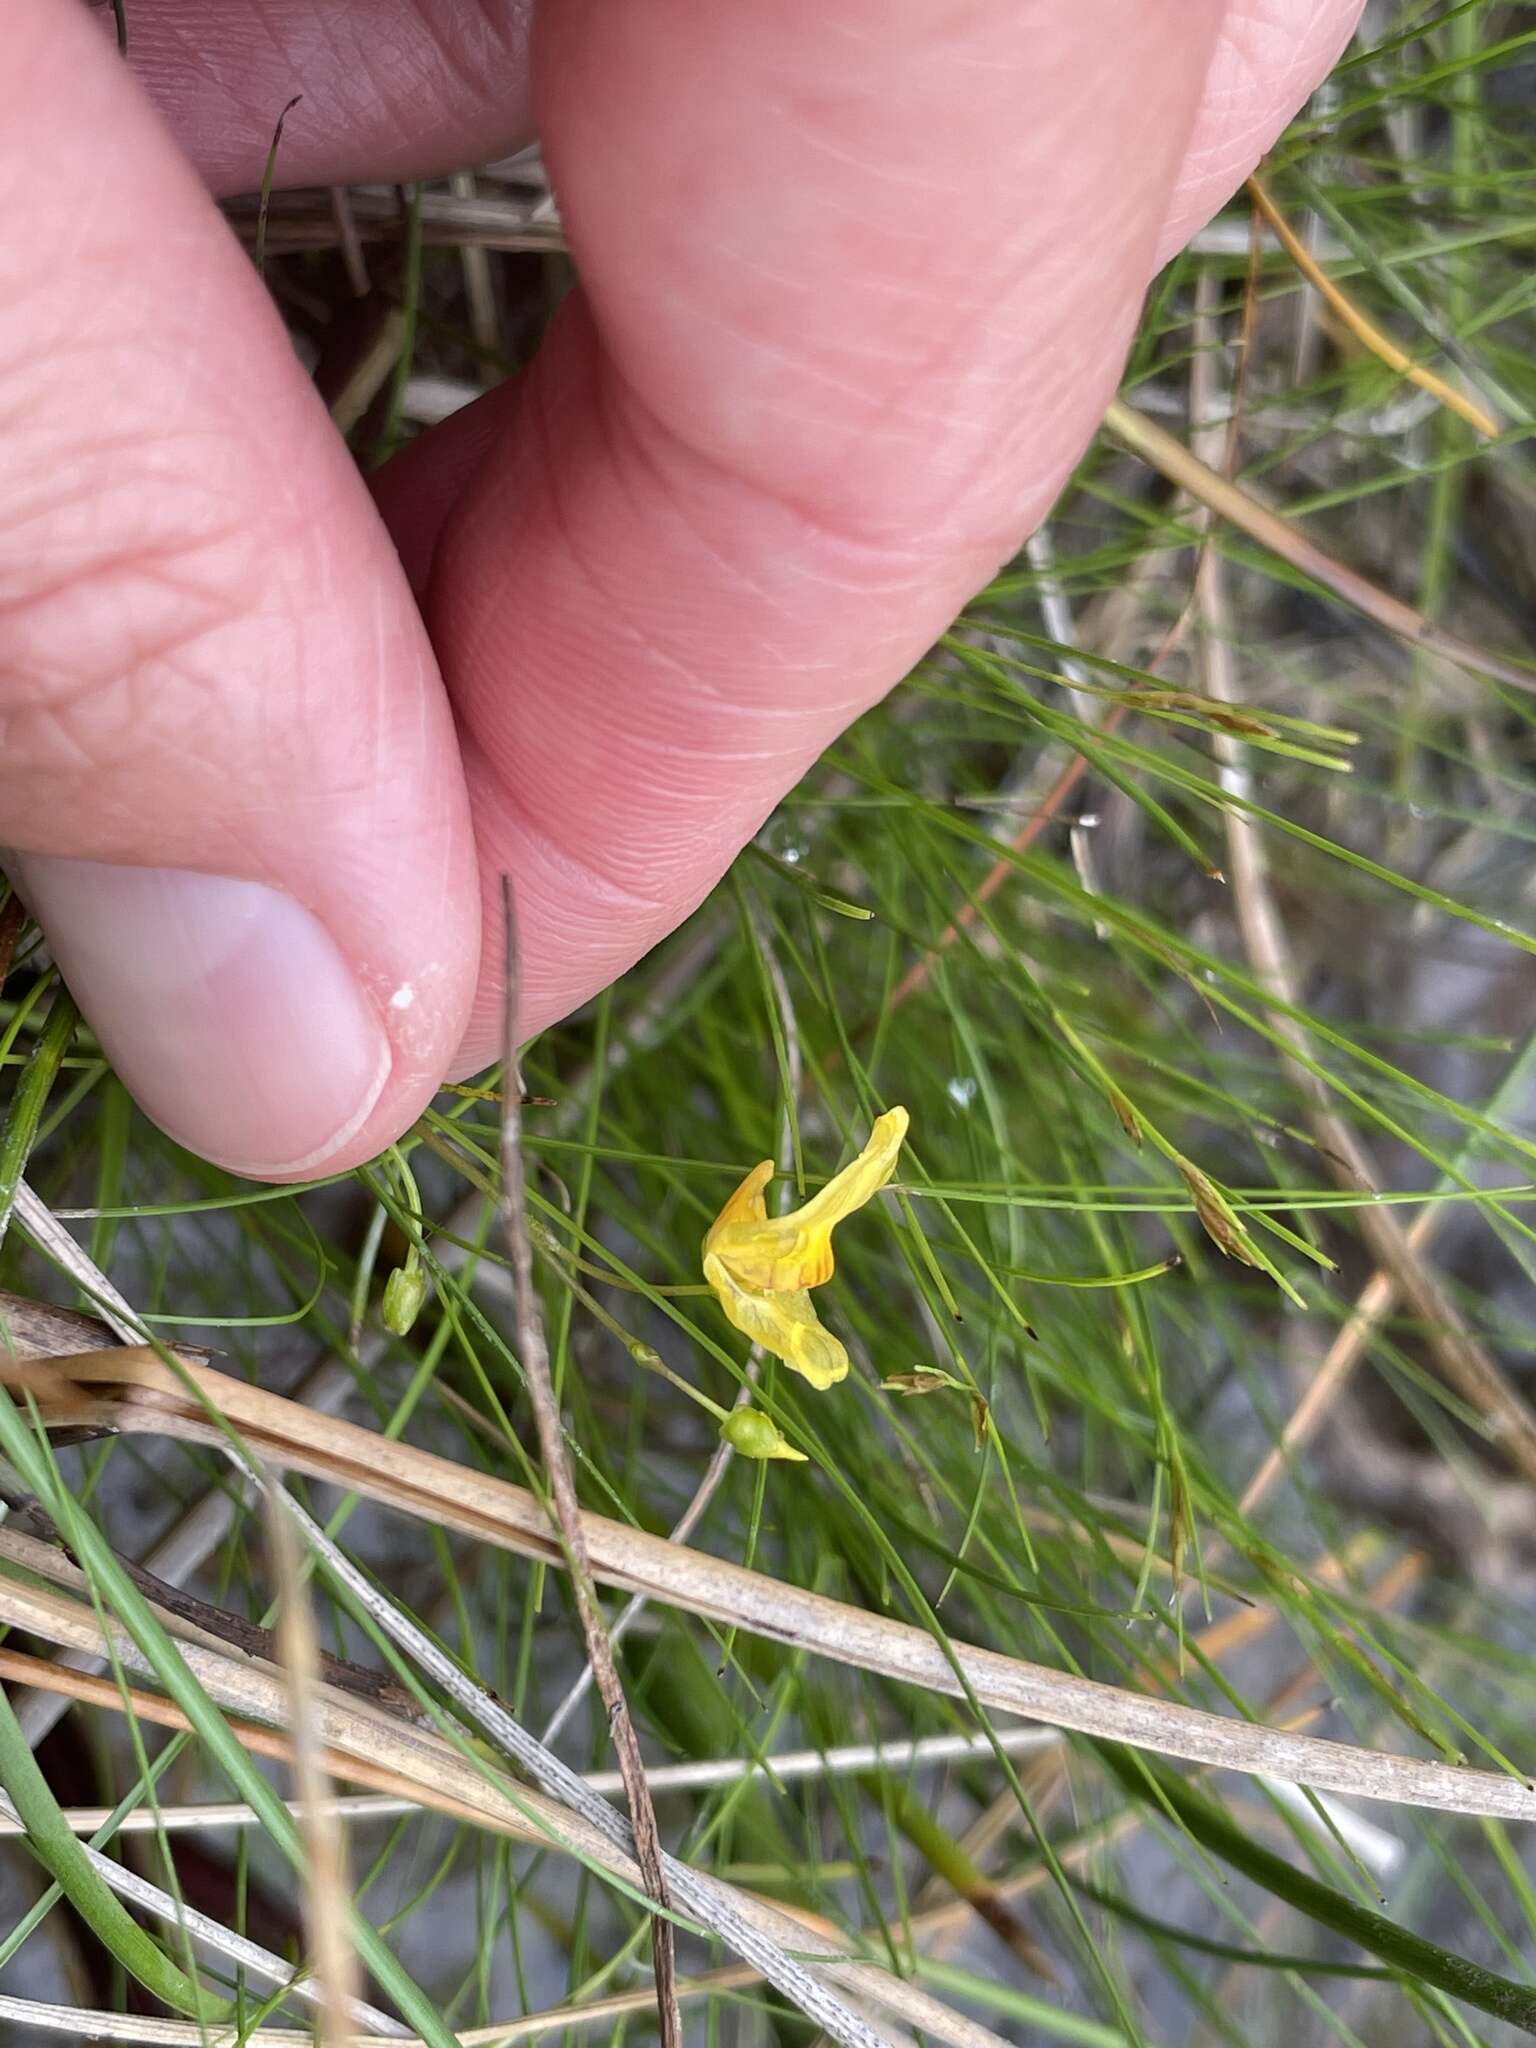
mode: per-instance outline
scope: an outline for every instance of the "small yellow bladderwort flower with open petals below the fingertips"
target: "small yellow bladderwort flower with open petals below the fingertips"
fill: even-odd
[[[836,1386],[848,1372],[848,1352],[821,1327],[807,1290],[831,1280],[831,1227],[881,1192],[905,1135],[907,1112],[887,1110],[858,1159],[788,1217],[768,1217],[762,1192],[774,1161],[764,1159],[705,1237],[705,1280],[725,1315],[811,1386]]]

